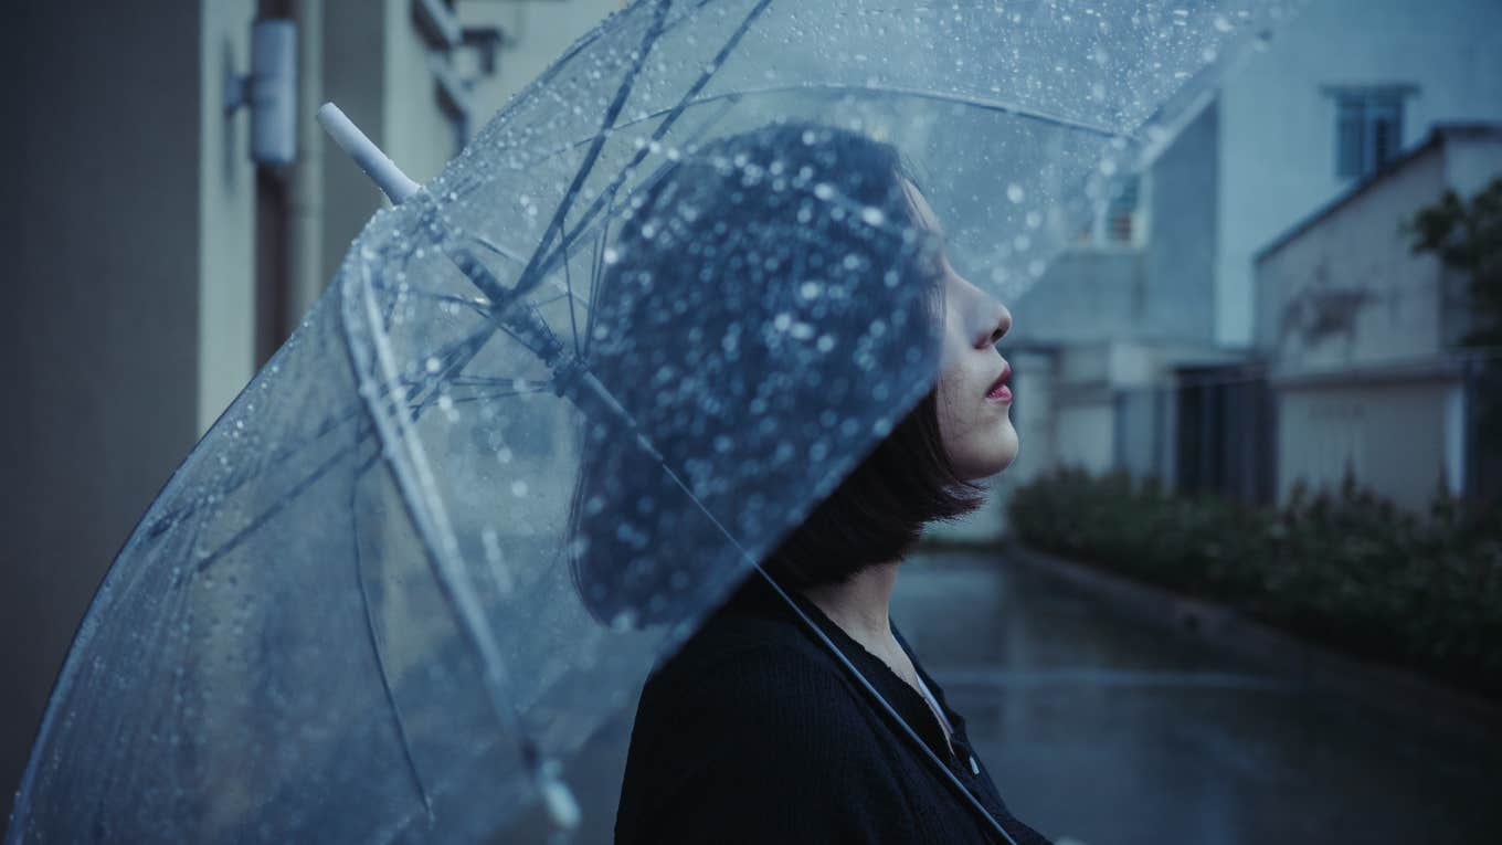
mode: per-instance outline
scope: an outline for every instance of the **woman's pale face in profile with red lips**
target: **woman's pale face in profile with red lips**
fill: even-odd
[[[943,235],[921,192],[906,185],[918,221]],[[943,268],[943,356],[939,376],[939,433],[958,475],[967,481],[1006,469],[1017,457],[1012,427],[1012,368],[996,341],[1012,326],[1012,314],[996,298],[970,284],[949,265]]]

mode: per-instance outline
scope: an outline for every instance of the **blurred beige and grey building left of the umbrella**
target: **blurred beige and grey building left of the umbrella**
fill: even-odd
[[[418,180],[620,0],[27,3],[0,27],[12,152],[0,335],[0,795],[131,528],[333,277],[380,192],[335,101]],[[296,152],[251,158],[252,21],[296,26]]]

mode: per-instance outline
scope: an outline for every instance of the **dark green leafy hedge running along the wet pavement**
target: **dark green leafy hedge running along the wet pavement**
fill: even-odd
[[[1494,505],[1439,495],[1416,516],[1347,480],[1337,495],[1254,508],[1066,469],[1018,489],[1009,514],[1027,546],[1502,699]]]

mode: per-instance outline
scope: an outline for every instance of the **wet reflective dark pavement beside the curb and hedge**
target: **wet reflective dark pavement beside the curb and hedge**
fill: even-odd
[[[1311,692],[996,555],[915,558],[892,618],[1012,812],[1087,845],[1502,842],[1502,738]],[[610,842],[629,714],[566,771]],[[541,818],[506,840],[547,840]]]

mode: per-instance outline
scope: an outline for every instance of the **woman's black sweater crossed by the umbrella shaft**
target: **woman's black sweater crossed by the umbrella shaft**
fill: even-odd
[[[796,600],[1017,845],[1047,842],[1006,810],[964,719],[916,657],[954,728],[954,753],[915,689],[811,601]],[[1003,840],[753,574],[652,674],[637,705],[616,843],[677,842]]]

